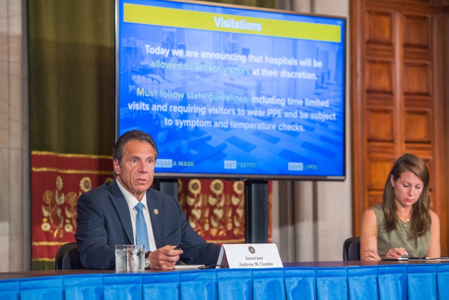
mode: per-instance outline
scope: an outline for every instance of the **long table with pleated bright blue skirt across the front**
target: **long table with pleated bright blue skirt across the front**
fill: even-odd
[[[0,273],[1,299],[445,299],[447,261],[301,262],[284,268]]]

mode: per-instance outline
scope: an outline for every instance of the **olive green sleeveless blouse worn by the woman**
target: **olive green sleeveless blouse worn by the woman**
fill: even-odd
[[[382,204],[371,207],[376,213],[377,221],[377,252],[384,257],[389,249],[403,247],[410,257],[425,257],[430,246],[430,230],[422,237],[408,239],[410,225],[397,218],[396,229],[388,233],[384,228],[385,216]]]

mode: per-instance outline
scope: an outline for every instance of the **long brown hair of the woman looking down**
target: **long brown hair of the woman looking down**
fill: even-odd
[[[388,174],[385,182],[384,193],[382,196],[383,209],[385,215],[384,227],[387,232],[396,228],[397,213],[396,202],[394,197],[394,188],[391,185],[390,177],[393,175],[393,181],[396,181],[401,177],[404,172],[410,171],[414,173],[419,179],[422,180],[424,186],[422,187],[421,196],[413,204],[413,213],[411,218],[411,229],[408,238],[413,239],[421,237],[430,230],[432,224],[429,206],[430,206],[430,194],[429,194],[429,170],[426,163],[422,158],[413,154],[404,154],[398,158]]]

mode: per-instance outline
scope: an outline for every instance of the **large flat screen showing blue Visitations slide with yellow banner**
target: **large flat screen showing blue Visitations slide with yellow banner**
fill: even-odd
[[[150,133],[160,178],[343,180],[345,22],[117,0],[117,136]]]

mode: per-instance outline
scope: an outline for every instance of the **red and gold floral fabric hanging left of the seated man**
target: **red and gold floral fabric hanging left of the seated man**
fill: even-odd
[[[59,246],[75,241],[78,197],[112,179],[110,156],[31,153],[32,270],[54,269]]]

